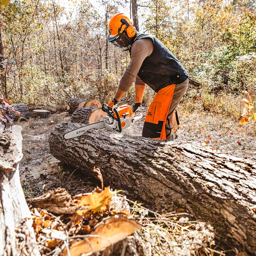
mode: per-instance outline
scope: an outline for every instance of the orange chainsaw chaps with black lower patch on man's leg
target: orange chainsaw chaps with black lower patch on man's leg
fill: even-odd
[[[142,136],[166,140],[165,122],[172,103],[175,84],[162,88],[151,102],[146,114]]]

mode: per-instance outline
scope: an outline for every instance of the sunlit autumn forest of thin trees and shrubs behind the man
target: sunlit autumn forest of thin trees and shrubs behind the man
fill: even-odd
[[[161,40],[192,84],[187,111],[239,120],[245,91],[256,93],[254,0],[11,0],[1,7],[1,94],[30,108],[65,110],[70,97],[108,102],[129,53],[107,41],[111,16],[127,10],[139,31]],[[95,1],[96,3],[96,1]],[[147,87],[143,104],[154,92]],[[255,100],[254,100],[255,101]],[[134,102],[134,87],[122,98]]]

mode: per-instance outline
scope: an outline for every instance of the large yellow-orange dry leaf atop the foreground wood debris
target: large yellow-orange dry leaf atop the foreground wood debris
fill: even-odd
[[[109,186],[100,193],[95,191],[91,195],[83,196],[78,202],[78,206],[85,206],[86,209],[77,210],[77,214],[82,216],[90,210],[93,212],[107,210],[112,196],[114,196],[114,193],[110,191]]]

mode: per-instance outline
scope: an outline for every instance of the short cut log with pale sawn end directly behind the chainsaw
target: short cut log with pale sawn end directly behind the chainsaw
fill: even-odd
[[[101,108],[78,108],[72,114],[71,122],[92,124],[103,120],[106,115]]]

